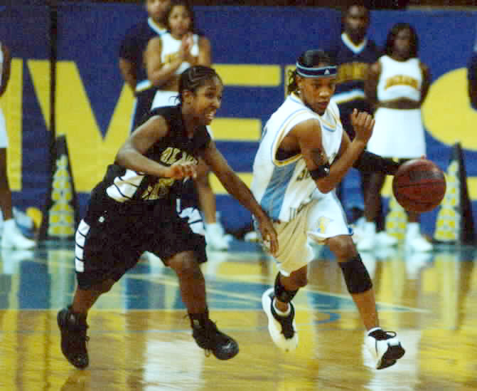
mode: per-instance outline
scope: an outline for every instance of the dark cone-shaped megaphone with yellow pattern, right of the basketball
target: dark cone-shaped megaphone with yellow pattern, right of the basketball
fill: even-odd
[[[475,244],[472,204],[468,197],[466,167],[459,142],[452,147],[446,182],[446,195],[436,217],[434,241],[443,244]]]

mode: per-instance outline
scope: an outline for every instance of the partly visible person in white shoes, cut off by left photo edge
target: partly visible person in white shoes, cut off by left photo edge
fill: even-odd
[[[4,95],[10,79],[11,55],[9,48],[0,42],[0,97]],[[0,110],[0,209],[4,217],[1,247],[4,249],[31,249],[36,243],[16,226],[11,205],[11,189],[6,172],[6,148],[9,146],[4,114]]]

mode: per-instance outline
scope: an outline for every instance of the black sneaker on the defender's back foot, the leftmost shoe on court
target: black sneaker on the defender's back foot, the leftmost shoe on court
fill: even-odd
[[[85,369],[90,363],[86,343],[86,316],[71,311],[71,307],[58,312],[58,327],[61,331],[61,351],[68,361],[79,369]]]

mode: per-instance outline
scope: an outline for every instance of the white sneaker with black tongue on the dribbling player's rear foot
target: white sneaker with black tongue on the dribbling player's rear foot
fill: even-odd
[[[285,352],[295,350],[298,346],[298,333],[295,324],[295,308],[290,302],[290,313],[279,316],[273,308],[274,288],[269,288],[262,295],[262,307],[268,318],[268,331],[273,342]]]

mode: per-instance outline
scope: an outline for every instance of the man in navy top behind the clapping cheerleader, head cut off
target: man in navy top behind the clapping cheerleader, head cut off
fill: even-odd
[[[166,32],[164,16],[169,4],[170,0],[146,0],[147,20],[132,26],[119,48],[119,69],[135,96],[130,132],[149,113],[156,93],[147,78],[144,51],[151,38]]]

